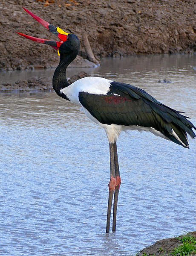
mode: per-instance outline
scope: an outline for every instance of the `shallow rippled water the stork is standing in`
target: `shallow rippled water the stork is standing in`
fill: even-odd
[[[195,124],[194,66],[195,56],[144,55],[103,59],[85,71],[141,87]],[[9,82],[36,72],[53,71],[0,76]],[[0,130],[1,256],[130,256],[195,230],[195,141],[185,149],[147,132],[121,134],[117,230],[105,234],[103,129],[55,93],[31,92],[0,94]]]

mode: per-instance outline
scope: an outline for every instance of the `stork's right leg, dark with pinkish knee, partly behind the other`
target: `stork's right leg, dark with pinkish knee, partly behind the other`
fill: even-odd
[[[112,232],[116,231],[116,214],[117,214],[117,203],[118,203],[118,193],[121,185],[121,177],[118,165],[118,153],[117,153],[117,145],[114,143],[114,166],[115,166],[115,192],[114,192],[114,208],[113,208],[113,223],[112,223]]]

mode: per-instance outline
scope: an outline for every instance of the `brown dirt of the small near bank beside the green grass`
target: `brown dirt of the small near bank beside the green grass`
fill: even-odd
[[[196,238],[196,231],[189,232],[187,235],[191,235]],[[182,238],[184,235],[179,236],[179,238]],[[153,256],[171,256],[171,253],[174,248],[181,245],[181,241],[176,238],[166,238],[159,241],[156,241],[155,244],[144,248],[139,253],[137,253],[137,256],[143,256],[143,255],[153,255]],[[193,256],[193,254],[191,254]],[[195,255],[195,254],[194,254]]]

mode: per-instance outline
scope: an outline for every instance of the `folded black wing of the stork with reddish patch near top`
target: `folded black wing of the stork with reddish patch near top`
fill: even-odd
[[[187,134],[196,129],[179,111],[171,109],[146,91],[121,82],[111,82],[107,95],[79,93],[79,101],[102,124],[153,127],[167,138],[188,147]],[[183,144],[172,135],[175,131]]]

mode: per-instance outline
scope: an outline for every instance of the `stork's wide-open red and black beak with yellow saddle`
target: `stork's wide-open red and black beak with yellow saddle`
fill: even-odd
[[[55,48],[55,50],[58,51],[59,47],[61,46],[61,44],[63,44],[63,42],[65,42],[67,40],[67,36],[70,33],[66,33],[65,31],[63,31],[60,27],[55,27],[52,24],[49,24],[47,21],[44,21],[43,19],[41,19],[40,17],[38,17],[37,15],[35,15],[34,13],[30,12],[29,10],[27,10],[26,8],[23,7],[23,9],[29,13],[29,15],[31,15],[36,21],[38,21],[42,26],[44,26],[46,29],[48,29],[50,32],[52,32],[54,35],[58,36],[58,38],[61,41],[50,41],[47,39],[42,39],[42,38],[37,38],[37,37],[33,37],[30,35],[25,35],[22,33],[17,32],[17,34],[22,35],[23,37],[30,39],[32,41],[35,41],[37,43],[41,43],[41,44],[48,44],[50,46],[52,46],[53,48]],[[59,52],[58,52],[59,55]]]

